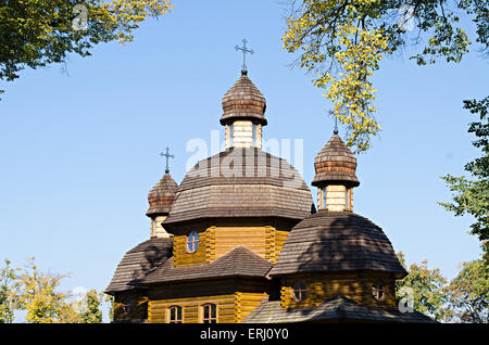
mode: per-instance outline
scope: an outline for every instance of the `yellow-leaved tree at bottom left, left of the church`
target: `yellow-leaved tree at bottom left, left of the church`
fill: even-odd
[[[58,291],[63,278],[67,276],[42,272],[28,258],[24,270],[18,274],[20,308],[25,309],[25,320],[29,323],[75,323],[80,316],[67,302],[67,294]]]

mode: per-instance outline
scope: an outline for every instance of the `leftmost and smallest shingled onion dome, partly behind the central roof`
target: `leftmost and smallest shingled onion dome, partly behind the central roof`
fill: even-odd
[[[165,173],[161,180],[154,184],[148,194],[150,208],[146,213],[148,217],[156,215],[167,215],[172,207],[178,184],[174,181],[168,173]]]

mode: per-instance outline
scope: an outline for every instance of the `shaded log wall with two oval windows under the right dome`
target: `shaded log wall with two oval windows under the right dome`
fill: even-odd
[[[302,280],[306,284],[306,297],[301,302],[292,299],[293,284]],[[375,282],[384,282],[384,298],[378,302],[372,294]],[[342,273],[342,274],[297,274],[283,279],[280,301],[283,308],[321,305],[324,301],[343,295],[352,301],[379,306],[396,306],[394,280],[388,274]]]

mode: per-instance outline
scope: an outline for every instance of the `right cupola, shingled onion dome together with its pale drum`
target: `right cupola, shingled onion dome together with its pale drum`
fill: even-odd
[[[326,210],[353,210],[353,188],[356,178],[356,158],[348,149],[338,131],[314,159],[316,175],[312,184],[317,187],[318,208]]]

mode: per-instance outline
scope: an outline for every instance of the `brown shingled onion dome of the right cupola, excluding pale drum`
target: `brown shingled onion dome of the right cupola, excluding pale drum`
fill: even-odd
[[[358,187],[360,184],[355,176],[356,157],[347,148],[336,130],[331,139],[316,155],[314,168],[316,176],[314,176],[312,184],[315,187],[325,184]]]

